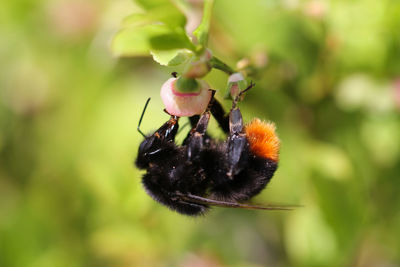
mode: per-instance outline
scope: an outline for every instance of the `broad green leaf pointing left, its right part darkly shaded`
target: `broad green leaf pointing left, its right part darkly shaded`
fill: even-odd
[[[121,30],[111,43],[117,56],[147,56],[150,50],[194,49],[184,31],[165,25],[142,25]]]

